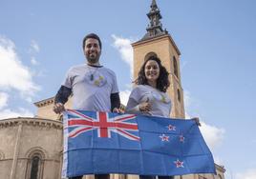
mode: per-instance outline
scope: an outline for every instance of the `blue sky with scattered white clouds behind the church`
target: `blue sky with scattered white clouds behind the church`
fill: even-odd
[[[83,37],[102,39],[101,65],[114,70],[122,103],[133,71],[131,43],[146,32],[151,0],[0,0],[0,118],[33,116],[70,67],[85,62]],[[157,0],[163,29],[181,50],[187,118],[226,179],[256,178],[256,1]]]

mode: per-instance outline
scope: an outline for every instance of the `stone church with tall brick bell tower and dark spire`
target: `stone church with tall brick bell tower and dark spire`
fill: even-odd
[[[183,89],[181,87],[181,51],[160,23],[160,9],[152,0],[147,13],[149,25],[145,35],[132,44],[134,50],[134,79],[143,61],[158,56],[170,73],[167,90],[173,109],[170,117],[184,119]],[[0,179],[61,179],[63,125],[62,116],[53,113],[54,98],[34,103],[34,117],[0,120]],[[72,108],[72,98],[65,105]],[[217,175],[190,174],[175,179],[224,179],[224,167],[216,164]],[[94,175],[84,176],[94,179]],[[139,179],[137,175],[111,174],[111,179]]]

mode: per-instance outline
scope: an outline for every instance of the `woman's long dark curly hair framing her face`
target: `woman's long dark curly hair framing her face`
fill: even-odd
[[[145,66],[149,60],[156,61],[159,64],[160,76],[157,79],[157,89],[159,89],[160,91],[166,92],[166,90],[170,86],[170,81],[168,79],[169,72],[161,65],[160,59],[156,56],[150,56],[148,59],[144,61],[142,67],[139,70],[139,75],[135,83],[137,85],[149,85],[145,75]]]

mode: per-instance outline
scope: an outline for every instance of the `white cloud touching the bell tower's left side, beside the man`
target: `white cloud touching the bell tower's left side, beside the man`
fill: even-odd
[[[134,64],[133,64],[133,59],[134,59],[134,53],[133,53],[133,48],[131,46],[133,40],[128,39],[128,38],[122,38],[118,37],[117,35],[113,34],[112,38],[114,39],[114,44],[113,46],[118,50],[118,52],[121,55],[121,59],[129,65],[130,67],[130,72],[131,72],[131,77],[133,75],[134,71]]]

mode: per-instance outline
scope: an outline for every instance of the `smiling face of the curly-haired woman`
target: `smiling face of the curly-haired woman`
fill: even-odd
[[[144,72],[145,72],[147,81],[157,82],[160,76],[160,66],[158,62],[154,60],[147,61]]]

